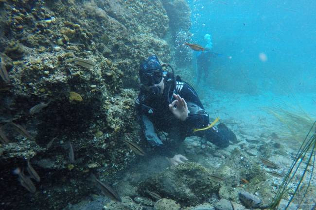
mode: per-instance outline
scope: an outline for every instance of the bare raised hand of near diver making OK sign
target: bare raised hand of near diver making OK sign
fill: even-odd
[[[177,119],[184,121],[187,119],[189,110],[187,102],[185,102],[184,98],[179,95],[173,95],[176,100],[174,100],[171,104],[169,104],[169,110],[176,116]]]

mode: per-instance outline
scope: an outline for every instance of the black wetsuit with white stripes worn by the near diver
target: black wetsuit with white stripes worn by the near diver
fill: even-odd
[[[185,137],[197,135],[200,137],[205,136],[208,141],[215,145],[221,147],[228,146],[229,140],[226,136],[223,136],[223,132],[220,132],[215,127],[193,134],[193,129],[204,128],[209,125],[208,114],[205,117],[204,107],[196,92],[189,84],[178,78],[176,88],[174,86],[175,82],[173,79],[165,78],[165,87],[162,95],[150,97],[151,95],[145,89],[141,88],[140,90],[135,103],[140,114],[141,127],[147,141],[152,146],[163,145],[156,134],[156,130],[158,130],[167,132],[169,135],[171,134],[170,136],[176,139],[176,141],[183,141]],[[168,108],[170,102],[174,100],[172,98],[173,93],[179,94],[188,104],[190,113],[185,121],[177,119]],[[192,113],[191,107],[193,106],[197,106],[200,110],[199,113],[204,112],[204,114]],[[224,127],[227,129],[225,125]]]

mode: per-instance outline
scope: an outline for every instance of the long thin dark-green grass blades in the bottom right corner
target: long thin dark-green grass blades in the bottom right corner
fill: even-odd
[[[291,198],[284,210],[287,210],[294,200],[297,201],[297,208],[304,203],[304,199],[308,197],[308,189],[310,188],[314,174],[315,156],[316,121],[301,144],[290,169],[288,170],[276,196],[270,204],[270,210],[277,210],[283,196],[291,191],[291,184],[294,184],[296,187],[294,192],[291,192]],[[298,182],[296,182],[296,180],[298,180]]]

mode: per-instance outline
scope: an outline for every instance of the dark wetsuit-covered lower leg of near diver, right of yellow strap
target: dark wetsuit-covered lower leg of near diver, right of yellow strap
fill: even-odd
[[[205,138],[219,147],[228,147],[229,140],[237,141],[236,135],[223,123],[218,124],[217,129],[212,127],[206,130]]]

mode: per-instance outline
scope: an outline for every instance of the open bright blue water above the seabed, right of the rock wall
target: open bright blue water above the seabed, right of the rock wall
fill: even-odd
[[[204,35],[209,33],[212,51],[223,54],[212,60],[211,88],[316,94],[316,1],[188,2],[193,43],[206,46]],[[266,59],[260,59],[260,54]]]

